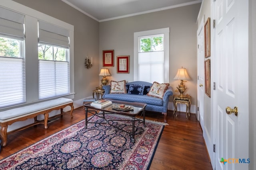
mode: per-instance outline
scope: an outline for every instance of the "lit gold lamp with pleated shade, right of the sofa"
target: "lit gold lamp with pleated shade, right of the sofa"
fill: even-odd
[[[179,87],[177,89],[180,92],[180,96],[183,96],[183,93],[187,89],[185,85],[183,84],[183,80],[190,80],[190,77],[188,76],[186,68],[179,68],[176,76],[174,77],[174,80],[180,80]]]

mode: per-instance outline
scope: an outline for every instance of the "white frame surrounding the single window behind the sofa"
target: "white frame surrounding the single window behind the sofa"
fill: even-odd
[[[153,36],[164,34],[164,82],[169,83],[169,33],[170,28],[153,29],[148,31],[140,31],[134,33],[134,81],[138,80],[138,52],[139,50],[139,37]]]

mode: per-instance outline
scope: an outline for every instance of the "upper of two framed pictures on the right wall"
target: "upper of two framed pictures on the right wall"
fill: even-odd
[[[211,56],[210,18],[204,24],[204,57]]]

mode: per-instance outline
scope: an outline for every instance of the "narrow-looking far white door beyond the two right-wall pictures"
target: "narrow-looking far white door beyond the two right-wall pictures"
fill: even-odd
[[[197,106],[198,120],[204,133],[204,19],[197,31]]]

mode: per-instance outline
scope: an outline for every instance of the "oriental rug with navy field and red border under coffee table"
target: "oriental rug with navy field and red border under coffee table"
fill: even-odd
[[[106,115],[108,119],[116,119]],[[0,160],[1,170],[147,170],[164,125],[140,123],[135,142],[130,134],[92,117],[85,128],[80,121],[7,158]],[[120,119],[120,118],[118,118]],[[132,130],[129,121],[113,121],[120,129]]]

